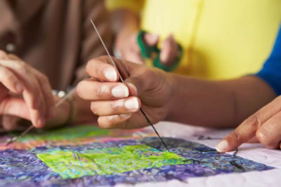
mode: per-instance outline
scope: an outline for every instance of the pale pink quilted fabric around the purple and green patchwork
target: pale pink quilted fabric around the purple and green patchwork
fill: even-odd
[[[202,143],[209,147],[215,147],[220,140],[198,140],[194,135],[204,135],[209,137],[223,138],[229,130],[214,130],[201,127],[192,127],[170,122],[160,122],[155,125],[159,133],[165,137],[182,138],[189,141]],[[150,128],[150,127],[147,127]],[[233,152],[229,152],[232,154]],[[244,173],[219,174],[208,177],[195,177],[187,180],[187,183],[182,183],[178,180],[158,183],[140,183],[136,185],[117,185],[121,186],[137,186],[137,187],[161,187],[161,186],[191,186],[191,187],[280,187],[281,179],[281,151],[270,150],[259,143],[244,143],[239,147],[238,156],[253,160],[268,166],[273,166],[276,169],[266,171],[253,171]]]

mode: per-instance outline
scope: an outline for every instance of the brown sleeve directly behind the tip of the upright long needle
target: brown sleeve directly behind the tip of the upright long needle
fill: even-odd
[[[82,41],[79,60],[80,66],[76,70],[76,83],[86,76],[85,65],[88,60],[107,54],[95,32],[95,29],[93,28],[93,25],[91,24],[90,19],[93,20],[99,34],[111,54],[113,41],[112,29],[110,26],[110,15],[106,10],[104,0],[84,0],[81,2],[83,7],[83,19],[81,25]]]

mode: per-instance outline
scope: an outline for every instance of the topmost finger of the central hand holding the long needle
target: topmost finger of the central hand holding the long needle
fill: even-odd
[[[86,65],[86,72],[94,78],[104,81],[116,82],[119,74],[116,68],[108,62],[109,58],[99,57],[90,60]],[[110,63],[110,64],[109,64]]]

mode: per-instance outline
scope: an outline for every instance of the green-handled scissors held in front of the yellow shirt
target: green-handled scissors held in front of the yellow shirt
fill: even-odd
[[[144,42],[143,36],[145,35],[145,33],[146,33],[145,31],[140,30],[138,32],[138,35],[137,35],[138,45],[141,49],[141,56],[143,58],[152,58],[153,54],[155,53],[156,57],[153,59],[153,62],[152,62],[153,66],[157,67],[157,68],[160,68],[160,69],[162,69],[164,71],[167,71],[167,72],[173,71],[179,65],[179,62],[181,61],[182,53],[183,53],[182,52],[182,46],[180,44],[177,44],[178,50],[179,50],[179,55],[178,55],[177,59],[175,60],[175,63],[173,63],[173,65],[166,66],[166,65],[164,65],[160,62],[160,52],[161,52],[161,50],[157,47],[157,45],[149,46]]]

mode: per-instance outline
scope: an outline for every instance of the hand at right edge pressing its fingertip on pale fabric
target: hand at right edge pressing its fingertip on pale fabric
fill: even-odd
[[[281,144],[281,96],[243,121],[217,145],[219,152],[232,151],[245,142],[258,140],[270,149]]]

